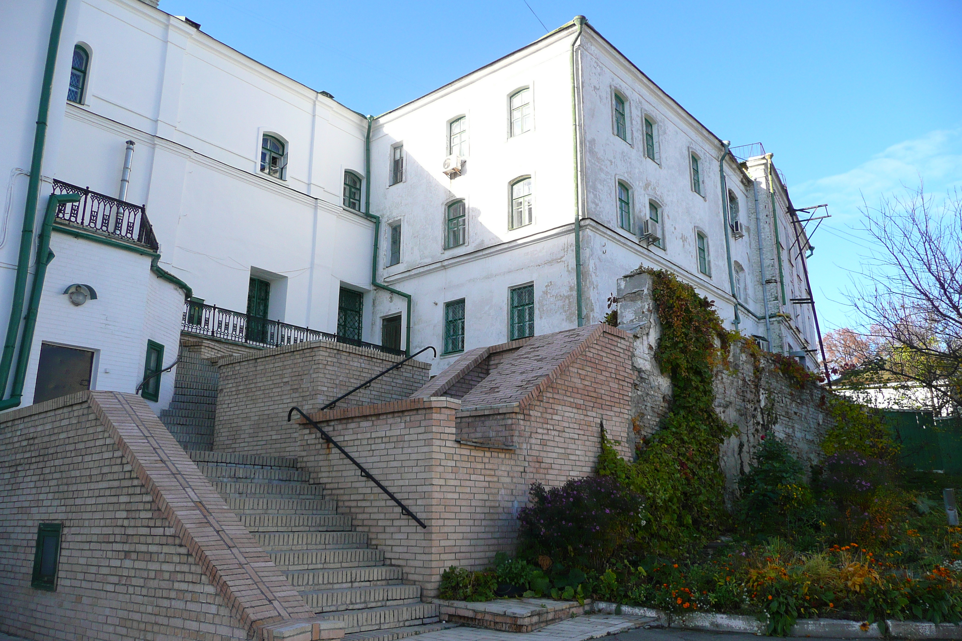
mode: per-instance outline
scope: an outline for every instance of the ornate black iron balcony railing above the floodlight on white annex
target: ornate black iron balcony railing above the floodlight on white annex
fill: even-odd
[[[79,227],[131,240],[157,251],[160,247],[154,228],[147,219],[147,208],[111,198],[89,187],[54,181],[54,193],[77,193],[80,201],[57,208],[57,218]]]

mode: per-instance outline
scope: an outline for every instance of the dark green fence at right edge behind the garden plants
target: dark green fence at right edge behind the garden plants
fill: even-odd
[[[930,411],[885,410],[906,467],[962,474],[962,419],[936,418]]]

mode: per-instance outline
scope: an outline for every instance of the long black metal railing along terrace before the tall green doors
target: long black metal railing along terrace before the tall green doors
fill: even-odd
[[[367,343],[363,340],[339,336],[334,333],[320,332],[319,330],[312,330],[306,327],[289,325],[281,321],[258,318],[241,313],[240,311],[218,308],[215,305],[194,303],[192,301],[184,304],[183,331],[263,347],[293,345],[294,343],[303,343],[310,340],[329,340],[347,345],[357,345],[358,347],[369,347],[384,352],[385,354],[393,354],[396,356],[404,356],[406,354],[404,350],[395,350],[391,347],[375,345],[374,343]]]

